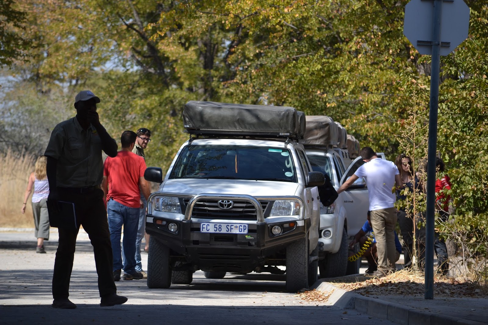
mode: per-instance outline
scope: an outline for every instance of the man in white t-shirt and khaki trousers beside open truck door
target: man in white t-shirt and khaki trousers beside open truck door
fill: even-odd
[[[378,255],[378,270],[373,275],[383,276],[389,271],[395,271],[396,248],[393,231],[397,215],[393,205],[396,200],[395,189],[403,188],[402,178],[393,162],[378,158],[370,147],[361,149],[361,157],[366,163],[342,184],[337,193],[345,191],[358,178],[366,178],[371,226],[376,237]]]

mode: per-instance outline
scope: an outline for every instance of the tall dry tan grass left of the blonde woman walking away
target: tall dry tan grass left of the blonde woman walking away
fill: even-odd
[[[0,154],[0,227],[34,227],[30,198],[25,214],[20,212],[36,157],[15,157],[9,150]]]

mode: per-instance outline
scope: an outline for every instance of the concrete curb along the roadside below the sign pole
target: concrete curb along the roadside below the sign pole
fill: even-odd
[[[321,280],[319,280],[321,281]],[[401,325],[481,325],[476,321],[470,321],[459,317],[421,311],[407,305],[391,303],[379,298],[365,297],[360,294],[346,291],[334,284],[322,282],[316,290],[330,294],[327,305],[334,305],[340,308],[356,309],[371,317],[387,319]]]

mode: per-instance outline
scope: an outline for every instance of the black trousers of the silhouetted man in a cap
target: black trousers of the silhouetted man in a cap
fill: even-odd
[[[100,296],[116,293],[117,288],[112,273],[112,245],[107,211],[103,203],[103,191],[96,189],[86,194],[60,191],[60,200],[75,203],[78,229],[58,229],[59,244],[54,262],[53,298],[64,299],[69,296],[69,282],[80,224],[88,233],[93,246]]]

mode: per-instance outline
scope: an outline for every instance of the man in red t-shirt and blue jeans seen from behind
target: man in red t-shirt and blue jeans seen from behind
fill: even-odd
[[[107,203],[108,228],[113,253],[114,280],[140,280],[142,273],[137,272],[136,238],[141,208],[141,193],[149,198],[149,184],[144,179],[146,163],[132,149],[136,143],[136,133],[124,131],[121,136],[122,151],[117,157],[107,157],[103,164],[102,190]],[[121,234],[123,224],[123,261]]]

